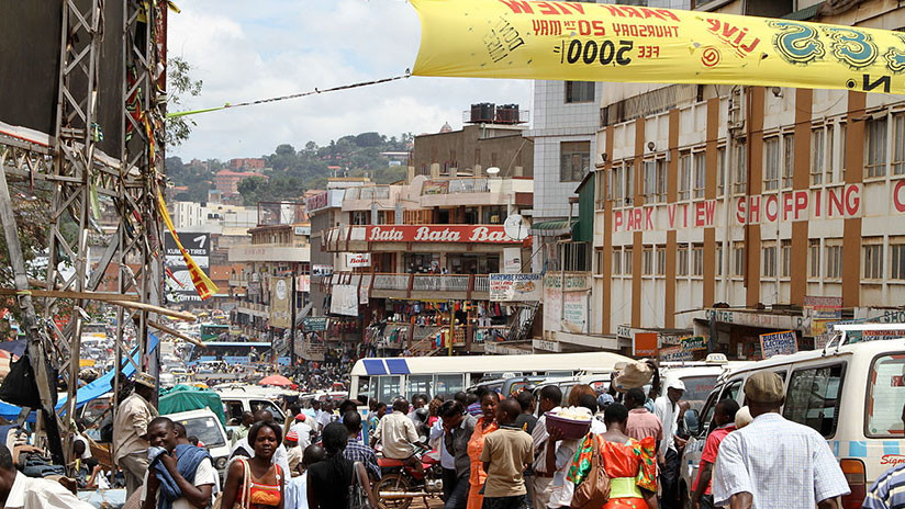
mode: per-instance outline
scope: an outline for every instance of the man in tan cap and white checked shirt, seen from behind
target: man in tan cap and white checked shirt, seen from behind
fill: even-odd
[[[719,444],[713,476],[716,506],[733,509],[836,508],[849,494],[848,483],[826,439],[784,419],[782,378],[752,374],[745,383],[745,403],[755,420]]]

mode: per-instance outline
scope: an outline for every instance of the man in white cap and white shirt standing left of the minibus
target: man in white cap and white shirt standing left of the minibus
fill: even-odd
[[[653,401],[653,415],[660,418],[663,425],[663,440],[660,441],[657,453],[660,463],[660,485],[662,495],[660,507],[672,509],[675,507],[677,480],[679,478],[679,448],[685,441],[675,436],[679,423],[679,399],[685,394],[685,384],[680,378],[667,383],[667,394]]]

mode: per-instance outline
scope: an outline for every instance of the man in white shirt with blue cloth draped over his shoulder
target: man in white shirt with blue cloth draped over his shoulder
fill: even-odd
[[[156,509],[165,495],[161,493],[160,473],[155,467],[157,461],[166,468],[170,478],[179,488],[181,497],[172,500],[172,509],[204,509],[212,501],[216,485],[216,471],[211,463],[211,455],[203,449],[191,444],[177,443],[176,427],[168,417],[157,417],[150,421],[147,430],[152,449],[160,448],[156,460],[152,462],[142,486],[142,509]],[[177,449],[179,445],[179,449]],[[176,454],[174,454],[176,451]],[[153,451],[152,451],[153,452]],[[200,459],[200,461],[199,461]],[[180,465],[182,463],[182,465]],[[188,478],[180,473],[180,467],[189,472]],[[193,472],[192,472],[193,470]]]

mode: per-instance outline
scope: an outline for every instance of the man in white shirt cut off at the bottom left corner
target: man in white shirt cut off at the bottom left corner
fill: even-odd
[[[12,453],[0,443],[0,507],[7,509],[92,509],[62,484],[26,477],[15,470]]]

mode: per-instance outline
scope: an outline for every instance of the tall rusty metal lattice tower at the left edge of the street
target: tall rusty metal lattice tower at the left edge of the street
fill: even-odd
[[[157,195],[164,173],[164,121],[166,83],[167,1],[120,0],[123,18],[104,16],[104,0],[63,0],[59,88],[55,132],[47,143],[0,135],[0,218],[15,272],[19,305],[29,331],[29,355],[38,380],[48,445],[55,462],[71,460],[71,437],[78,388],[82,312],[90,293],[96,292],[108,267],[116,267],[119,294],[135,294],[141,303],[159,304],[163,279],[159,257],[160,217]],[[104,37],[123,44],[120,83],[101,83],[99,68]],[[104,154],[98,148],[102,132],[98,124],[101,87],[122,87],[120,154]],[[60,296],[45,297],[43,320],[36,316],[29,291],[35,282],[25,275],[16,234],[8,180],[43,181],[53,189],[49,213],[49,240],[45,290]],[[101,230],[101,204],[115,211],[115,234]],[[108,246],[100,261],[89,259],[89,236],[107,237]],[[18,256],[13,255],[18,251]],[[59,270],[66,267],[66,271]],[[130,267],[132,265],[132,267]],[[136,269],[137,267],[137,269]],[[59,327],[54,319],[60,310],[70,319]],[[87,316],[87,315],[86,315]],[[116,369],[114,401],[119,394],[119,370],[127,353],[127,332],[134,326],[135,344],[141,353],[136,370],[156,370],[148,362],[149,316],[146,310],[116,312]],[[130,329],[131,330],[131,329]],[[57,370],[68,399],[54,411],[57,387],[43,384],[47,370]],[[24,417],[24,416],[23,416]],[[65,444],[60,440],[65,431]],[[65,452],[64,452],[65,451]]]

